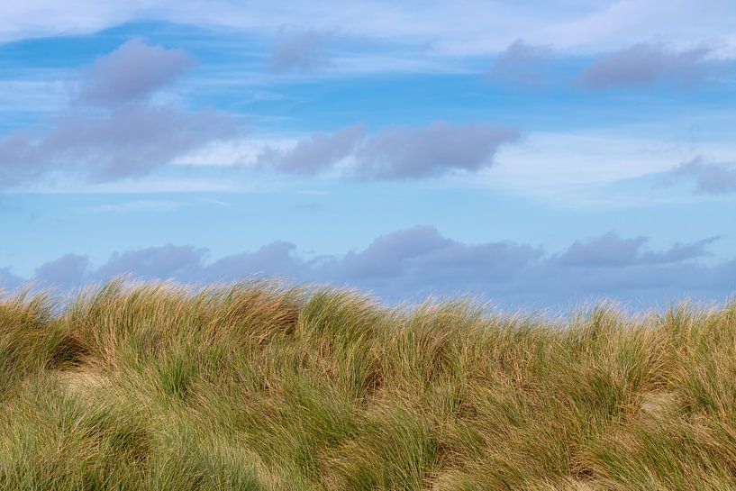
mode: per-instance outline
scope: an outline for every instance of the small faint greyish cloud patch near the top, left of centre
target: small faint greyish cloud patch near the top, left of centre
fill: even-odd
[[[333,35],[328,31],[282,29],[268,66],[275,72],[311,71],[323,67],[328,63],[327,43]]]

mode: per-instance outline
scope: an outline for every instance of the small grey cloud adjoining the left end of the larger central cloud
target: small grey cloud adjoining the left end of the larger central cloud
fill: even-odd
[[[266,148],[259,154],[259,164],[271,166],[287,174],[315,175],[332,168],[348,157],[363,138],[365,129],[356,124],[332,134],[314,133],[310,138],[298,141],[293,149]]]

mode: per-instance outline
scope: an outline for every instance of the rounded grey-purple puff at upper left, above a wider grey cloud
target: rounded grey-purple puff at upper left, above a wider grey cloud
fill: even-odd
[[[167,50],[133,39],[83,70],[77,97],[90,105],[141,100],[171,83],[192,64],[193,59],[184,50]]]

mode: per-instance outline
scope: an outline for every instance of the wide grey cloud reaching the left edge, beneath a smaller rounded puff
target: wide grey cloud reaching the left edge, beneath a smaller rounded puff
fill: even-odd
[[[97,180],[141,176],[239,131],[230,115],[211,109],[187,113],[136,103],[104,113],[72,110],[47,134],[0,138],[0,186],[21,184],[58,166],[81,166]]]

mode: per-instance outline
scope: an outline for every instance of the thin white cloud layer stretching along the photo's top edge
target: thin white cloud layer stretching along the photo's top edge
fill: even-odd
[[[273,33],[280,26],[341,29],[358,38],[427,43],[452,56],[503,50],[523,36],[560,50],[612,50],[632,41],[727,41],[734,35],[730,0],[459,0],[386,2],[275,0],[29,0],[6,3],[0,41],[95,32],[133,20],[163,20]],[[693,22],[697,19],[697,22]],[[451,20],[451,22],[449,22]]]

